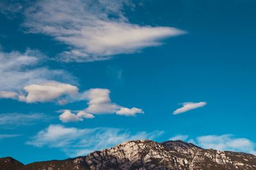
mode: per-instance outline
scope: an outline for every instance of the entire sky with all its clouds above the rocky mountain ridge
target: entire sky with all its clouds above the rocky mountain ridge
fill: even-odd
[[[1,1],[0,157],[129,139],[255,154],[255,1]]]

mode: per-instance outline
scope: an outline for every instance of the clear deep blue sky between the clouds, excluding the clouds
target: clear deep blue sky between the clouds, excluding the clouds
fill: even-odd
[[[256,142],[256,2],[255,1],[144,1],[127,9],[134,24],[177,27],[187,34],[164,39],[162,46],[138,53],[116,55],[111,60],[87,63],[51,61],[49,67],[65,69],[77,77],[81,91],[111,90],[111,99],[121,106],[145,111],[137,117],[99,115],[67,127],[115,127],[138,131],[164,131],[157,141],[176,134],[190,138],[207,134],[234,134]],[[67,48],[51,37],[27,34],[22,16],[0,15],[0,44],[4,52],[38,49],[49,57]],[[110,69],[110,71],[109,71]],[[117,71],[122,70],[118,80]],[[198,110],[172,115],[179,103],[206,101]],[[12,156],[24,163],[65,159],[56,148],[24,145],[49,124],[61,124],[56,110],[83,109],[84,101],[58,106],[54,103],[26,104],[2,99],[0,113],[45,113],[56,117],[15,129],[0,127],[0,134],[24,134],[0,141],[0,157]],[[26,155],[26,156],[25,156]]]

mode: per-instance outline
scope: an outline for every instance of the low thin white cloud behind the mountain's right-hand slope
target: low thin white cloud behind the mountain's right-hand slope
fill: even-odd
[[[253,141],[247,138],[235,138],[232,134],[206,135],[190,139],[188,137],[188,135],[178,135],[173,136],[170,139],[180,139],[189,143],[194,143],[195,145],[205,149],[215,149],[221,151],[230,150],[234,152],[252,153],[256,155],[256,146]]]

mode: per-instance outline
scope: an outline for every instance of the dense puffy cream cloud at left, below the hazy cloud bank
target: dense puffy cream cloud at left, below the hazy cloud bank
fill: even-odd
[[[26,96],[20,96],[20,101],[26,103],[53,101],[60,97],[75,97],[78,95],[78,88],[67,83],[58,81],[46,81],[40,84],[27,85],[24,88]],[[63,100],[60,101],[63,103]]]

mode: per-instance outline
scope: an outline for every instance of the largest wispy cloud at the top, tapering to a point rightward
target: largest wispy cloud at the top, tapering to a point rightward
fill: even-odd
[[[161,39],[184,34],[173,27],[131,24],[123,1],[37,1],[25,12],[28,32],[43,33],[67,44],[63,61],[92,62],[161,45]]]

